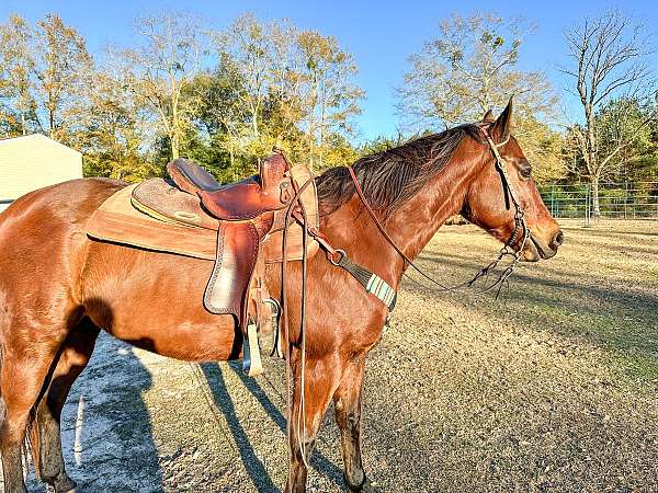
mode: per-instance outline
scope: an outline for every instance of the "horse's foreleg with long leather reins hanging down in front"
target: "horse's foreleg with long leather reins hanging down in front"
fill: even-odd
[[[288,479],[285,488],[286,493],[303,493],[306,491],[306,477],[308,470],[306,463],[310,461],[310,455],[316,437],[320,431],[322,419],[331,402],[331,395],[339,383],[339,368],[331,360],[308,360],[306,363],[304,417],[300,419],[300,379],[298,359],[293,352],[293,403],[291,406],[292,423],[288,423],[288,446],[291,449],[291,462]],[[303,426],[302,426],[303,424]],[[305,463],[306,462],[306,463]]]

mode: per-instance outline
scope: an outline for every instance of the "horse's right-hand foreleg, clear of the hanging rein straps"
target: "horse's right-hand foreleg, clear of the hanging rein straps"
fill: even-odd
[[[351,363],[333,394],[336,423],[340,431],[344,479],[351,491],[374,492],[361,460],[361,402],[365,358]]]

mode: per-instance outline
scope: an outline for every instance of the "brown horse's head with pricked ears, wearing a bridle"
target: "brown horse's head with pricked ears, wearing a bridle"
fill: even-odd
[[[462,215],[511,249],[522,250],[524,261],[551,259],[564,234],[540,196],[511,125],[512,100],[497,119],[491,112],[485,115],[480,124],[485,164],[470,183]]]

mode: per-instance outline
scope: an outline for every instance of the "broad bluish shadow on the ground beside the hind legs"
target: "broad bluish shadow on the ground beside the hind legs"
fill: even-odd
[[[163,491],[158,449],[144,392],[152,377],[134,349],[101,334],[94,354],[63,410],[67,472],[78,493]],[[43,491],[34,475],[30,491]]]

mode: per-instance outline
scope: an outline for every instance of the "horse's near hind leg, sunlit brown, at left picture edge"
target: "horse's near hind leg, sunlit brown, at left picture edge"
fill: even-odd
[[[5,341],[0,370],[4,420],[0,425],[0,455],[5,493],[26,493],[22,450],[31,412],[37,402],[61,340],[32,342],[31,347]]]

